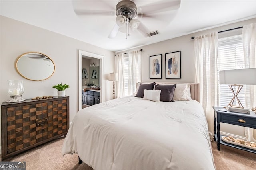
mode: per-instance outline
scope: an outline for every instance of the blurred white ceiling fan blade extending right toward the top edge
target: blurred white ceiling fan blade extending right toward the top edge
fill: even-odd
[[[161,0],[151,4],[146,4],[137,8],[138,16],[152,15],[159,12],[177,10],[180,8],[180,0]]]

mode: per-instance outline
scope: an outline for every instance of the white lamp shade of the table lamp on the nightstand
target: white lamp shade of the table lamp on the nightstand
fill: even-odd
[[[220,84],[256,84],[256,68],[222,70]]]

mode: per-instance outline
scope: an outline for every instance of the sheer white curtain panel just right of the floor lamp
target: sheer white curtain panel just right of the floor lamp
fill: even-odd
[[[116,98],[124,96],[124,54],[116,55],[116,73],[118,81],[116,82]]]

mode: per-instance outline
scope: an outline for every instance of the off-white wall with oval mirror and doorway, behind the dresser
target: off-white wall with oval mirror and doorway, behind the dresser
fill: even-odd
[[[0,44],[0,103],[9,99],[7,80],[24,80],[23,97],[27,99],[56,96],[57,90],[52,86],[62,81],[70,85],[66,89],[70,96],[70,121],[78,111],[78,50],[104,56],[104,78],[114,71],[114,52],[4,16],[0,16]],[[36,82],[18,74],[16,59],[29,51],[44,53],[54,61],[56,70],[52,77]],[[102,88],[104,101],[112,99],[112,82],[105,78]]]

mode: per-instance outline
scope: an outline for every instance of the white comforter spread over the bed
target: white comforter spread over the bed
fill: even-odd
[[[214,170],[208,126],[195,100],[134,96],[82,109],[62,148],[94,170]]]

